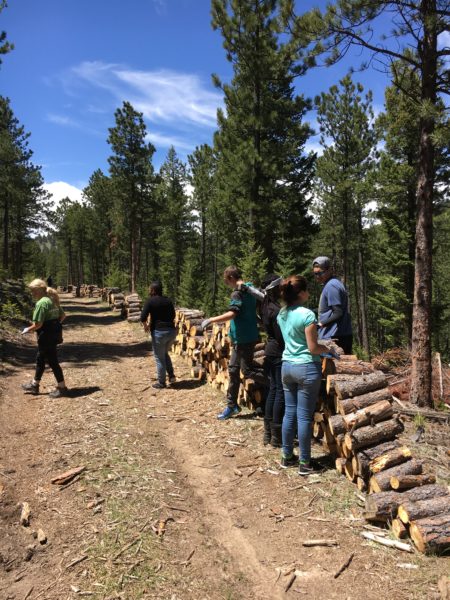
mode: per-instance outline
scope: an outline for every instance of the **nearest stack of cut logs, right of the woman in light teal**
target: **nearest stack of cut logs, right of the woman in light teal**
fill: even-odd
[[[409,535],[421,552],[450,548],[449,488],[437,485],[397,439],[404,427],[386,376],[356,357],[326,361],[325,370],[334,373],[326,379],[315,433],[336,454],[337,470],[368,493],[366,519],[390,523],[398,538]]]

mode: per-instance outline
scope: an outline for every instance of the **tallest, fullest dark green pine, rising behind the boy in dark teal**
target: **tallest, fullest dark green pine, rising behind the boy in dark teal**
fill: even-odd
[[[213,0],[212,23],[220,30],[233,80],[214,81],[224,93],[218,111],[217,203],[222,235],[233,260],[248,237],[277,262],[284,236],[300,261],[313,233],[307,214],[314,157],[305,156],[308,102],[294,92],[295,53],[282,37],[278,0]]]

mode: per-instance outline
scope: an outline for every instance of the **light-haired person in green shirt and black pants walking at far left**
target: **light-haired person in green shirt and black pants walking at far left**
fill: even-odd
[[[59,364],[57,346],[62,342],[61,323],[65,313],[59,304],[56,290],[48,288],[42,279],[34,279],[28,287],[36,305],[33,312],[32,325],[25,327],[25,335],[33,331],[37,334],[38,353],[36,355],[36,371],[30,383],[22,385],[25,393],[38,394],[39,384],[44,374],[45,365],[48,364],[56,379],[56,390],[50,392],[51,398],[59,398],[67,394],[64,375]]]

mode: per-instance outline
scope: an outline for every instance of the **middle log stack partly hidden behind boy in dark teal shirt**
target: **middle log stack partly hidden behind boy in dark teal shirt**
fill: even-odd
[[[204,313],[199,310],[179,308],[175,324],[178,334],[173,345],[173,353],[182,356],[191,366],[191,376],[206,381],[214,389],[226,392],[228,389],[228,362],[230,359],[229,322],[214,324],[212,329],[203,332],[201,328]],[[264,376],[262,363],[264,344],[255,348],[253,371],[258,381],[244,379],[241,373],[241,387],[238,403],[255,406],[264,399]]]

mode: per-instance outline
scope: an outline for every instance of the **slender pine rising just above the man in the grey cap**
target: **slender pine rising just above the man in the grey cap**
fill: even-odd
[[[322,232],[337,271],[342,273],[357,308],[358,340],[370,354],[367,324],[365,187],[374,160],[376,135],[371,124],[372,95],[350,76],[316,98],[321,144],[317,160],[317,195]],[[323,252],[325,249],[323,250]]]

